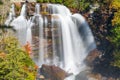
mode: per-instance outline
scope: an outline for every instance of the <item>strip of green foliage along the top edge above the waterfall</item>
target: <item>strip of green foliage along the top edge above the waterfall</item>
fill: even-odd
[[[37,2],[40,3],[51,2],[51,3],[64,4],[67,7],[78,9],[81,11],[88,8],[90,4],[90,1],[88,0],[37,0]]]

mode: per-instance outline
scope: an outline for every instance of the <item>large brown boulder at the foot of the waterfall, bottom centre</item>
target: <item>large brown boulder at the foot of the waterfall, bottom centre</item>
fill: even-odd
[[[45,79],[50,80],[64,80],[67,76],[70,75],[55,65],[49,66],[44,64],[40,69],[40,73],[45,77]]]

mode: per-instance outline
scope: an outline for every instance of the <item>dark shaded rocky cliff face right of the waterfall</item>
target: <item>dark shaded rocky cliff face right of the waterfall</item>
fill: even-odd
[[[109,37],[112,30],[112,18],[114,11],[109,9],[109,6],[100,6],[93,14],[88,12],[84,13],[88,23],[92,29],[97,44],[97,49],[101,52],[100,58],[97,57],[93,60],[94,73],[99,73],[102,77],[111,80],[116,80],[120,77],[120,69],[111,65],[113,59],[113,45],[111,44]],[[94,53],[95,54],[95,53]],[[93,57],[93,56],[92,56]]]

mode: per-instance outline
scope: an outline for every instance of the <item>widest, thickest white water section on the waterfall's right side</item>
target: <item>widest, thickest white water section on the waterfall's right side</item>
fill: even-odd
[[[96,47],[89,26],[80,14],[71,15],[63,5],[49,4],[48,7],[61,23],[64,69],[77,74],[85,68],[84,59]]]

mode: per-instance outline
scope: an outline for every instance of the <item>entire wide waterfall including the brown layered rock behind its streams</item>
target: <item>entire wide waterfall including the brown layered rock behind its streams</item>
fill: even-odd
[[[36,4],[32,20],[27,21],[24,4],[20,16],[11,25],[17,30],[22,45],[31,43],[33,60],[38,66],[56,65],[78,74],[85,69],[84,59],[88,53],[96,48],[92,32],[80,14],[72,15],[59,4],[46,7],[47,14],[40,14],[40,4]]]

